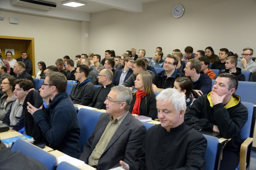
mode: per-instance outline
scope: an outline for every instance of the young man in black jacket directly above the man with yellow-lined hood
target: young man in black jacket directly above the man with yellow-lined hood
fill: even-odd
[[[245,81],[245,76],[241,73],[241,68],[237,67],[237,57],[229,56],[226,58],[225,72],[233,74],[237,77],[238,81]]]

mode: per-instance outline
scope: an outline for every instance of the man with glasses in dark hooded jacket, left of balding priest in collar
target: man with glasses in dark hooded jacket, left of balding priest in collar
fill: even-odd
[[[77,84],[72,87],[69,94],[73,104],[81,104],[87,106],[93,100],[95,93],[94,83],[88,79],[89,67],[86,65],[77,65],[75,72],[75,80]]]

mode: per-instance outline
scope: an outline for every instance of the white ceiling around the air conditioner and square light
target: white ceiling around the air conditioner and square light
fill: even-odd
[[[143,12],[143,3],[157,0],[80,0],[87,2],[87,5],[79,7],[69,7],[61,5],[61,2],[66,0],[44,0],[57,4],[57,8],[53,11],[39,11],[29,8],[12,6],[10,0],[0,0],[0,9],[27,13],[33,15],[41,15],[48,17],[65,18],[79,21],[90,21],[90,13],[101,12],[111,9],[119,9],[128,12],[141,13]]]

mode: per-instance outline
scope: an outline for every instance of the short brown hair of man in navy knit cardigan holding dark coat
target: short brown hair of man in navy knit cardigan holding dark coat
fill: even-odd
[[[68,81],[64,74],[60,72],[47,72],[45,74],[49,78],[49,84],[52,84],[56,87],[57,92],[61,93],[66,90]]]

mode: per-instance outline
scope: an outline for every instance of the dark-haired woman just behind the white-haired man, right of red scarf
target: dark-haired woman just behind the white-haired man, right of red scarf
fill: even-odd
[[[189,106],[199,96],[195,90],[193,90],[193,82],[187,77],[179,77],[174,82],[174,87],[180,92],[184,92],[186,96],[186,105]]]

